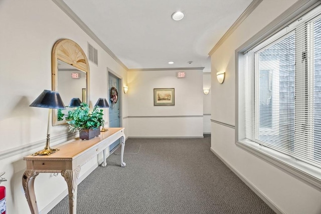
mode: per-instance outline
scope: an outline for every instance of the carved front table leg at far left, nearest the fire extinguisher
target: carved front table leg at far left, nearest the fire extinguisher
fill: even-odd
[[[34,189],[35,178],[38,174],[39,172],[28,169],[22,176],[22,186],[24,187],[25,196],[27,198],[29,208],[32,214],[39,213]]]

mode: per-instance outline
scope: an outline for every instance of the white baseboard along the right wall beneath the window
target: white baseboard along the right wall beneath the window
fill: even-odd
[[[236,169],[234,169],[228,162],[226,162],[220,155],[218,155],[214,149],[211,147],[211,151],[218,157],[220,160],[229,167],[234,174],[236,174],[250,189],[257,194],[273,211],[275,211],[277,214],[284,214],[282,210],[280,210],[270,199],[268,199],[259,189],[257,189],[250,181],[248,181],[240,172],[238,172]]]

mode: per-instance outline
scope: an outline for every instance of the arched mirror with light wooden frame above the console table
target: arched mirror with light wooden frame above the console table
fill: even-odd
[[[53,126],[66,124],[73,98],[89,102],[89,64],[84,51],[72,40],[58,40],[52,50],[52,90],[58,91],[66,110],[53,109]]]

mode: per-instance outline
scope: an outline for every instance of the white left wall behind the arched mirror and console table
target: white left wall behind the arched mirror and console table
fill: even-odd
[[[99,97],[107,98],[107,67],[122,77],[124,85],[127,71],[52,1],[1,0],[0,4],[0,171],[5,171],[8,179],[1,185],[7,188],[7,212],[18,214],[29,210],[21,183],[26,168],[23,157],[43,149],[47,133],[48,109],[29,105],[44,89],[51,90],[51,52],[55,42],[71,39],[85,53],[88,42],[98,49],[99,66],[90,63],[91,107]],[[126,118],[126,95],[122,100],[122,115]],[[104,112],[108,121],[108,110]],[[123,126],[127,135],[126,120]],[[51,146],[64,142],[67,132],[67,125],[52,127]],[[97,158],[89,161],[80,176],[86,176],[97,164]],[[50,202],[67,193],[60,175],[50,177],[44,173],[37,176],[35,183],[39,210],[47,210]]]

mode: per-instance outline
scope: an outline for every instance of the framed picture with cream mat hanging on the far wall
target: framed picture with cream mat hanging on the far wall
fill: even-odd
[[[154,106],[174,106],[174,88],[154,88]]]

